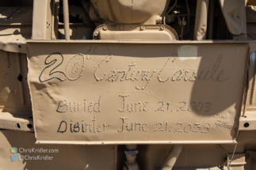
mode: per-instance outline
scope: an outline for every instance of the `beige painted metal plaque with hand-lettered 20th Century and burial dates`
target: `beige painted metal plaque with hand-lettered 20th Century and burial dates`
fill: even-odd
[[[29,42],[38,143],[230,143],[247,43]]]

